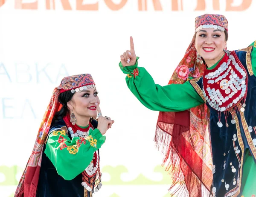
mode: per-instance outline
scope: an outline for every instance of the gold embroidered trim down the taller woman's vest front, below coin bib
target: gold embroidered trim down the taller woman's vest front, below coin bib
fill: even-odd
[[[237,139],[238,139],[238,143],[240,145],[240,148],[241,148],[241,166],[239,168],[239,178],[240,178],[240,182],[238,183],[238,181],[236,181],[236,187],[233,188],[232,190],[230,190],[228,193],[225,194],[225,196],[228,196],[228,194],[230,194],[230,192],[235,192],[235,194],[231,197],[237,197],[238,194],[240,193],[240,190],[241,190],[241,177],[242,177],[242,170],[243,169],[243,163],[244,163],[244,143],[243,143],[243,140],[242,140],[242,136],[241,136],[241,130],[240,130],[240,127],[239,127],[239,120],[238,120],[238,117],[236,115],[236,112],[234,111],[234,109],[230,109],[230,112],[232,114],[232,116],[234,117],[234,119],[236,120],[236,134],[237,134]]]

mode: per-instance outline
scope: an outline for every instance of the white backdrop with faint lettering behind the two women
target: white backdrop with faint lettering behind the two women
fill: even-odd
[[[177,11],[175,0],[148,0],[146,10],[145,1],[84,0],[98,8],[79,11],[76,0],[62,0],[72,10],[64,10],[61,0],[55,0],[54,10],[45,6],[50,2],[53,8],[54,0],[26,4],[30,9],[20,9],[21,0],[0,0],[1,197],[13,196],[52,90],[63,77],[80,73],[92,74],[103,115],[115,120],[100,151],[104,183],[95,196],[169,196],[171,180],[163,168],[154,171],[162,162],[153,142],[158,112],[141,105],[127,88],[120,54],[129,49],[132,35],[139,65],[166,85],[192,39],[196,16],[224,14],[228,49],[245,48],[256,39],[256,0],[220,0],[218,10],[218,0],[176,0]],[[124,6],[113,11],[111,2]]]

